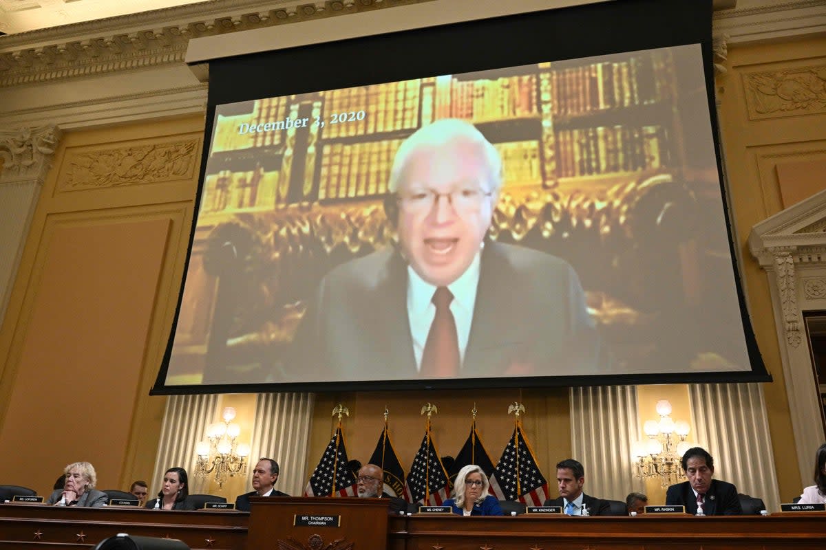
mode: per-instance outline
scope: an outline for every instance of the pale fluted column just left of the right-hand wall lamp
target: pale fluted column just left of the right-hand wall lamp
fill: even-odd
[[[639,486],[631,462],[637,417],[636,386],[571,388],[571,448],[586,468],[587,494],[624,501]],[[555,495],[556,472],[548,477]]]

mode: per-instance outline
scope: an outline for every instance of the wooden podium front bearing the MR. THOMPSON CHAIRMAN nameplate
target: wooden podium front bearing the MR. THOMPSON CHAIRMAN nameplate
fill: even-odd
[[[247,548],[377,550],[387,548],[389,499],[249,499]]]

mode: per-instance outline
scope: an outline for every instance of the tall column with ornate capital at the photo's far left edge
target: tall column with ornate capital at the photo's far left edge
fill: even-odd
[[[0,129],[0,323],[59,139],[55,125]]]

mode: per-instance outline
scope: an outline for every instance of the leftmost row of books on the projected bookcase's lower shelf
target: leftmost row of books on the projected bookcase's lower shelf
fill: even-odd
[[[243,209],[272,209],[286,202],[287,190],[280,188],[280,172],[264,172],[261,167],[247,172],[222,170],[204,181],[201,209],[205,213]]]

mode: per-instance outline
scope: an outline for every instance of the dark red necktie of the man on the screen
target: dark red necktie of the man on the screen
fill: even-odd
[[[433,293],[436,315],[427,334],[425,350],[421,355],[421,375],[425,378],[447,378],[459,372],[459,345],[456,321],[450,311],[453,294],[440,286]]]

